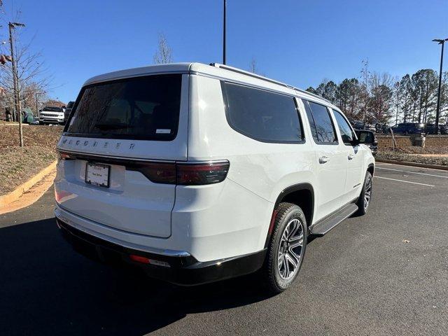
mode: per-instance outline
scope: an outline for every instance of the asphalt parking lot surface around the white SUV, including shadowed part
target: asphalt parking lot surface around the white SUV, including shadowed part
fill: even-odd
[[[448,172],[379,163],[366,216],[313,239],[290,290],[179,288],[74,253],[52,189],[0,216],[0,335],[447,335]]]

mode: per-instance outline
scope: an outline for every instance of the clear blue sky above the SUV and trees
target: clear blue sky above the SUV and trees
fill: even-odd
[[[221,62],[221,0],[3,0],[20,10],[52,76],[51,97],[76,99],[87,78],[153,63],[158,33],[175,62]],[[3,24],[1,38],[7,38]],[[228,0],[228,64],[306,88],[359,76],[361,60],[393,76],[437,69],[448,0]],[[447,52],[448,54],[448,48]],[[444,57],[448,69],[448,57]]]

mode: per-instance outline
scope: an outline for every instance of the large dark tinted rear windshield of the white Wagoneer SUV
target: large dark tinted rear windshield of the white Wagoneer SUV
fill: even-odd
[[[181,74],[85,87],[66,132],[79,137],[170,141],[181,109]]]

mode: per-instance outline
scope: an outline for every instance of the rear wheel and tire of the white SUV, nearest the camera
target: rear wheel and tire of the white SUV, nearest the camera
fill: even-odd
[[[263,276],[267,289],[278,294],[293,283],[302,267],[308,233],[302,209],[291,203],[279,204],[272,230]]]

